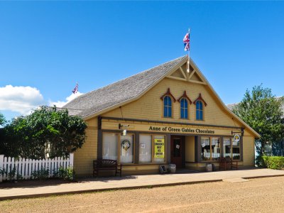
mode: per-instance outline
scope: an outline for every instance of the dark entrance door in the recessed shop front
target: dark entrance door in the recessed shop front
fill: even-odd
[[[170,140],[170,163],[182,168],[182,137],[172,136]]]

